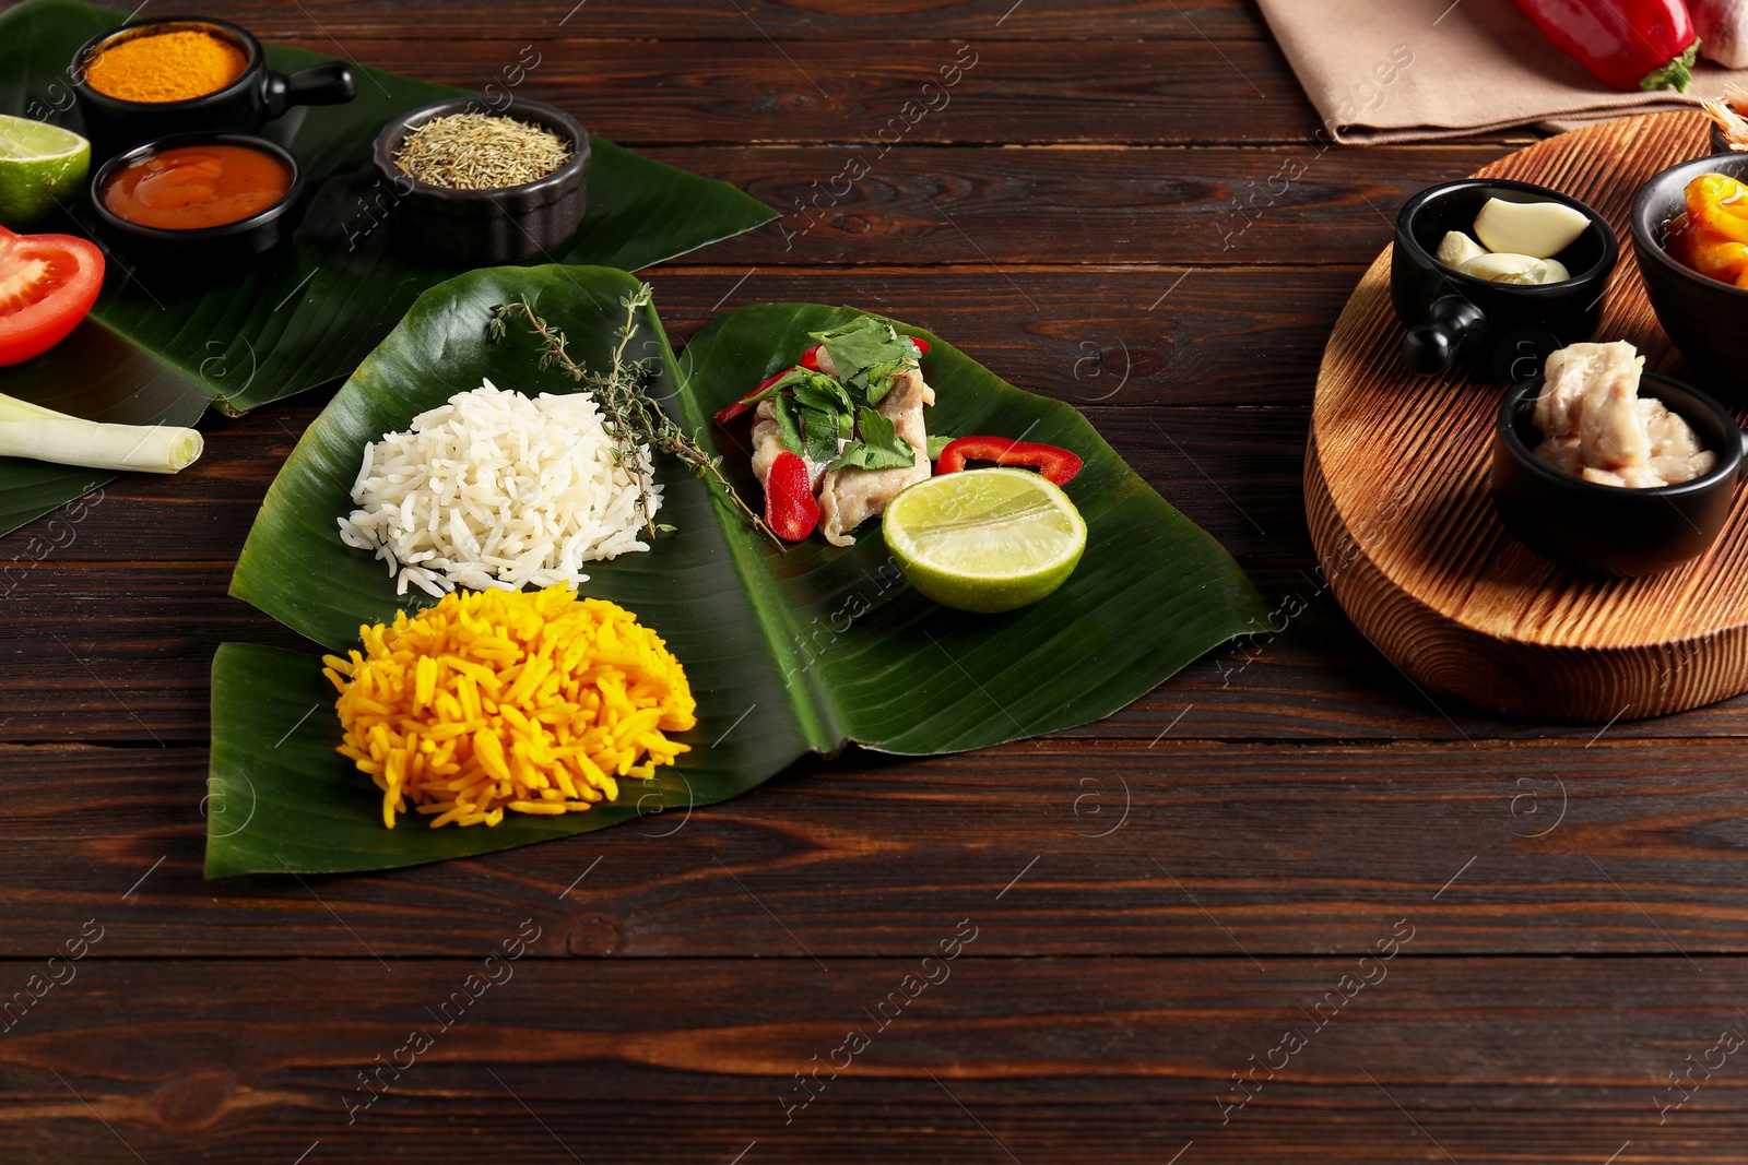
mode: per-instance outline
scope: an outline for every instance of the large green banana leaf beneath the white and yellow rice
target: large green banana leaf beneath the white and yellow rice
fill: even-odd
[[[364,445],[489,377],[524,393],[573,391],[542,370],[528,334],[488,341],[491,307],[526,295],[600,367],[619,297],[636,281],[600,267],[498,267],[427,292],[304,433],[267,493],[231,592],[309,639],[353,646],[358,625],[430,599],[397,597],[385,564],[339,541]],[[757,503],[745,449],[710,416],[795,362],[806,332],[850,307],[766,304],[731,313],[675,360],[654,307],[633,351],[657,360],[652,395],[717,444]],[[923,369],[930,428],[1009,433],[1075,449],[1068,494],[1087,520],[1075,575],[1007,615],[949,611],[911,590],[871,522],[850,548],[778,552],[676,465],[657,463],[661,520],[649,554],[591,564],[584,590],[633,610],[685,665],[699,702],[692,746],[621,803],[498,828],[385,830],[369,777],[334,753],[334,693],[315,655],[225,645],[213,660],[206,873],[339,872],[479,854],[745,793],[808,751],[848,742],[923,755],[982,748],[1108,716],[1215,645],[1267,624],[1238,564],[1173,510],[1072,407],[1024,393],[939,337]],[[743,433],[739,437],[745,437]],[[409,828],[413,826],[413,828]],[[671,826],[652,826],[666,831]]]

